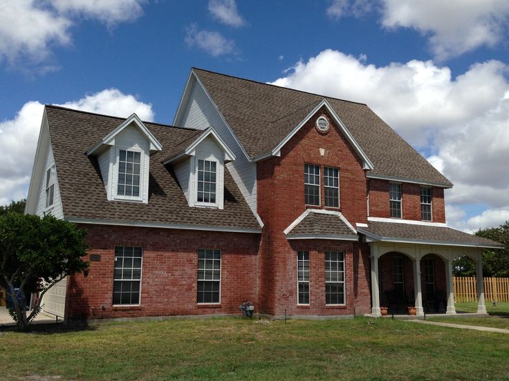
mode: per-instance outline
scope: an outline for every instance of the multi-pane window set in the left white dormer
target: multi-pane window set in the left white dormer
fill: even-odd
[[[140,197],[140,163],[141,153],[120,150],[118,157],[118,196]]]

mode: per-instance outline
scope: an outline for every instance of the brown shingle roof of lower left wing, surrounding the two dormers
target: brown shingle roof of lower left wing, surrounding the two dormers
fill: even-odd
[[[107,200],[97,159],[84,152],[124,119],[57,106],[46,106],[46,116],[66,218],[260,229],[228,170],[224,209],[190,208],[172,168],[160,163],[196,130],[144,122],[163,144],[163,151],[150,157],[149,203],[114,202]]]

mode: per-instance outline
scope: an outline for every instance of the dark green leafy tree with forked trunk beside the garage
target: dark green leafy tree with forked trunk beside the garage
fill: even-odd
[[[19,329],[26,330],[41,309],[42,296],[67,275],[88,274],[86,231],[52,215],[0,215],[0,285],[8,290],[10,311]],[[26,297],[39,293],[27,316]]]

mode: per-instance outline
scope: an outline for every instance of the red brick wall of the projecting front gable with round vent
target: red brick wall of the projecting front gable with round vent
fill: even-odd
[[[346,219],[367,222],[366,179],[362,162],[333,121],[326,135],[315,129],[317,112],[281,149],[281,157],[257,164],[258,213],[265,224],[261,245],[261,295],[267,313],[282,315],[349,315],[369,312],[369,250],[356,242],[293,240],[283,233],[304,213],[304,164],[321,166],[321,204],[324,208],[323,167],[340,168],[340,208]],[[328,117],[328,115],[326,115]],[[320,153],[324,149],[324,155]],[[297,308],[296,251],[310,251],[311,303]],[[325,306],[324,251],[340,250],[346,256],[346,306]]]

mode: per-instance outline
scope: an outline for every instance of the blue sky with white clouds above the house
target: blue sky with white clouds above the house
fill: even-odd
[[[26,195],[41,104],[171,124],[196,66],[367,103],[454,182],[452,226],[498,226],[508,16],[499,0],[3,0],[0,203]]]

